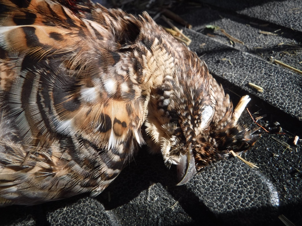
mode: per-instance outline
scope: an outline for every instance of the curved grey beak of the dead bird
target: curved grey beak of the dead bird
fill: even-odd
[[[195,159],[193,151],[190,148],[188,153],[181,156],[180,163],[177,165],[177,178],[180,181],[176,185],[187,183],[196,173]]]

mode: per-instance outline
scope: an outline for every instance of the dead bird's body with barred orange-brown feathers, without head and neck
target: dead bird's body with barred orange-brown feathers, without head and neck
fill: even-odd
[[[143,144],[145,98],[118,51],[134,17],[0,4],[0,206],[97,195]]]

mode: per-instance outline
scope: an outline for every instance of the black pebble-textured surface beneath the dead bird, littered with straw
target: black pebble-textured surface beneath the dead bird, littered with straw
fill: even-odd
[[[302,70],[302,1],[200,2],[174,10],[193,25],[192,30],[183,28],[192,39],[190,48],[202,56],[233,103],[239,100],[234,93],[248,94],[254,117],[267,114],[258,122],[271,133],[263,132],[243,156],[259,169],[226,159],[176,187],[175,168],[167,169],[161,156],[142,148],[98,197],[6,207],[0,225],[283,225],[281,214],[302,225],[301,142],[292,145],[294,135],[302,136],[302,75],[271,62],[273,57]],[[231,44],[205,25],[219,26],[244,44]],[[247,112],[240,120],[257,127]]]

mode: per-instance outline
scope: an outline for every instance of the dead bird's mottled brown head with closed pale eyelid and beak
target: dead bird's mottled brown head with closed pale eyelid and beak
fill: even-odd
[[[160,150],[166,165],[177,165],[178,185],[231,150],[246,151],[257,137],[237,123],[241,113],[206,64],[188,49],[180,55],[186,60],[174,59],[174,73],[151,90],[145,122],[152,151]]]

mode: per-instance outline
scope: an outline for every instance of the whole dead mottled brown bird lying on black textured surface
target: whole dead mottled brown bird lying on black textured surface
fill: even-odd
[[[143,123],[180,184],[254,143],[205,63],[147,13],[0,4],[0,206],[98,195],[144,144]]]

